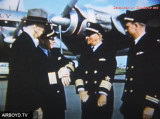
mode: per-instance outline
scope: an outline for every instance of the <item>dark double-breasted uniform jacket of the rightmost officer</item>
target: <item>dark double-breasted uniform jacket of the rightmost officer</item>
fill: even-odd
[[[160,42],[148,34],[142,36],[128,52],[126,82],[121,112],[142,115],[144,107],[155,107],[146,100],[150,95],[159,98]]]

